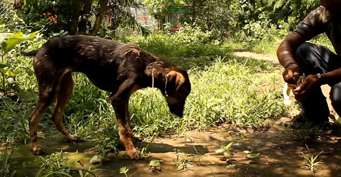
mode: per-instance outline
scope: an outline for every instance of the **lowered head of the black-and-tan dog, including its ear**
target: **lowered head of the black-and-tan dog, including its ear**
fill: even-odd
[[[185,100],[190,93],[190,82],[185,70],[171,70],[165,76],[165,92],[170,113],[183,117]]]

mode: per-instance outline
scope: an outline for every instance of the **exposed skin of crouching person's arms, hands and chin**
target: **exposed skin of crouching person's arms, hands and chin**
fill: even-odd
[[[332,16],[341,16],[341,0],[321,0],[321,4],[332,14]],[[302,74],[300,66],[296,64],[294,60],[293,53],[296,48],[308,40],[310,39],[305,39],[299,33],[292,32],[286,36],[277,50],[277,57],[280,64],[284,68],[286,67],[283,72],[284,81],[289,84],[296,84],[297,80],[294,77],[294,73]],[[288,64],[290,65],[288,66]],[[321,78],[318,78],[317,75],[309,75],[305,78],[302,84],[293,90],[295,99],[302,101],[319,86],[335,81],[341,82],[341,68],[323,73],[321,74]]]

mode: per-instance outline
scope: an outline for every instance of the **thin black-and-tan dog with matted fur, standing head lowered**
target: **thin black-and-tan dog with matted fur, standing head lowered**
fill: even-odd
[[[40,116],[56,99],[51,115],[53,122],[68,140],[77,140],[77,136],[70,135],[62,123],[63,109],[74,87],[72,72],[82,72],[98,88],[112,92],[109,99],[114,107],[121,141],[131,159],[140,159],[140,152],[132,142],[137,137],[131,131],[128,109],[133,92],[153,85],[166,97],[170,112],[183,116],[185,100],[190,93],[187,72],[136,45],[76,35],[50,39],[38,50],[24,55],[35,56],[33,66],[39,86],[38,105],[29,117],[31,150],[35,155],[43,154],[37,142]]]

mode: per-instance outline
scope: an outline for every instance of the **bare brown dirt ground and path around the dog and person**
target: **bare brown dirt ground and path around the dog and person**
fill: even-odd
[[[275,56],[251,52],[235,52],[234,54],[265,59],[281,69]],[[329,95],[329,89],[323,87],[326,97]],[[291,118],[295,113],[297,110],[288,117]],[[96,171],[95,174],[98,177],[124,177],[124,174],[119,174],[119,168],[125,166],[129,168],[128,176],[134,177],[341,177],[341,129],[323,131],[320,137],[307,144],[313,154],[324,150],[318,158],[318,161],[323,161],[324,164],[319,164],[321,170],[313,173],[301,168],[304,161],[300,152],[306,154],[309,152],[301,141],[293,137],[292,131],[285,128],[284,122],[289,118],[283,117],[272,122],[268,129],[258,131],[224,124],[207,131],[186,131],[181,138],[172,133],[164,133],[154,140],[148,150],[151,153],[144,160],[131,161],[124,156],[123,151],[119,155],[109,154],[106,161],[95,165],[96,168],[104,169]],[[80,159],[84,167],[91,165],[89,161],[92,155],[85,155],[83,152],[92,145],[87,142],[66,143],[60,133],[53,134],[53,136],[46,137],[46,140],[41,140],[47,154],[63,150],[63,152],[68,152],[65,156],[70,160]],[[139,143],[137,146],[144,147],[148,142]],[[227,160],[222,153],[215,151],[221,145],[227,145],[230,142],[234,142],[229,149],[233,155]],[[23,161],[35,159],[28,145],[21,145],[18,148],[19,159]],[[174,160],[177,156],[174,148],[188,155],[187,159],[193,162],[192,167],[175,171],[177,166]],[[259,160],[252,162],[246,159],[246,154],[243,152],[245,150],[260,153]],[[159,165],[159,172],[152,172],[148,165],[151,160],[163,161]],[[227,170],[227,164],[236,166]],[[31,170],[24,168],[19,173],[27,175]]]

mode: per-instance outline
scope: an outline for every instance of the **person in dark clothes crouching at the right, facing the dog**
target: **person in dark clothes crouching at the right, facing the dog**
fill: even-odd
[[[306,76],[293,90],[295,99],[302,105],[302,111],[294,122],[304,124],[308,121],[315,125],[332,127],[328,122],[327,101],[320,86],[331,86],[332,106],[341,116],[341,0],[321,0],[321,4],[284,39],[277,56],[285,68],[285,82],[296,84],[296,73],[304,73]],[[337,54],[326,47],[306,43],[324,32]]]

